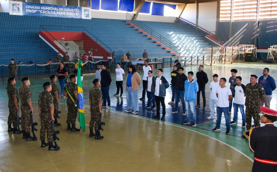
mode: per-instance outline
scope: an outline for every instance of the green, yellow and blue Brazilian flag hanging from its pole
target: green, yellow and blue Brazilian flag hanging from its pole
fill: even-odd
[[[80,128],[83,129],[83,131],[86,130],[85,126],[85,109],[84,109],[84,92],[82,87],[82,80],[81,80],[81,67],[84,64],[82,63],[82,60],[79,60],[79,62],[76,63],[75,66],[78,66],[78,72],[77,72],[77,91],[78,91],[78,108],[79,108],[79,119],[80,122]]]

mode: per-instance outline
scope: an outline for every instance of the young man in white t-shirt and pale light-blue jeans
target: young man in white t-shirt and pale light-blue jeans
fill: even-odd
[[[213,75],[213,81],[210,83],[210,116],[207,117],[207,119],[214,119],[214,105],[217,106],[218,98],[216,97],[216,88],[219,87],[219,81],[218,81],[218,74]]]

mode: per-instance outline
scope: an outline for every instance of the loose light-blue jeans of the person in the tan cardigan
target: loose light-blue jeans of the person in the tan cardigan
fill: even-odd
[[[133,111],[139,111],[139,90],[133,91],[131,86],[127,86],[126,90],[127,108]]]

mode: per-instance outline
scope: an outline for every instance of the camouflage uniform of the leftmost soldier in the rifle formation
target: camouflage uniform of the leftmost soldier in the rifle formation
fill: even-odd
[[[8,125],[13,124],[14,128],[17,128],[17,108],[14,104],[14,97],[17,98],[18,101],[18,92],[14,85],[9,84],[8,86],[8,97],[9,97],[9,117],[8,117]]]

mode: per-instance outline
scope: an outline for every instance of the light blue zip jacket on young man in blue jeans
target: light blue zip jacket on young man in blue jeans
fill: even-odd
[[[185,99],[188,101],[195,101],[196,93],[198,92],[199,87],[198,83],[195,80],[189,82],[189,80],[185,81]]]

